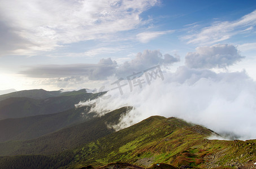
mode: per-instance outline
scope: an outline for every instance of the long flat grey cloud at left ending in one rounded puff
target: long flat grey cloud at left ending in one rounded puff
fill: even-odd
[[[106,79],[115,73],[116,62],[101,59],[98,64],[70,64],[35,66],[20,74],[35,78],[88,77],[90,80]]]

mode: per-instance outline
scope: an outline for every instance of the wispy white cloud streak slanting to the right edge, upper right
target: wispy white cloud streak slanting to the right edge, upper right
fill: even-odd
[[[188,43],[213,44],[231,38],[233,35],[254,30],[256,25],[256,10],[235,21],[219,21],[201,29],[198,33],[185,35]]]

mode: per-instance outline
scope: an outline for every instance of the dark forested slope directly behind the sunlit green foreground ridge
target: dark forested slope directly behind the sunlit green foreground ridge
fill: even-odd
[[[120,115],[126,113],[128,109],[120,108],[102,117],[93,118],[37,139],[0,143],[0,155],[51,154],[75,148],[114,132],[107,127],[107,124],[118,123]]]

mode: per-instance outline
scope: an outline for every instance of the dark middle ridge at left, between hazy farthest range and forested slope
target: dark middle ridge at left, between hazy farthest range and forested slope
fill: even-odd
[[[90,107],[85,106],[55,114],[3,119],[0,121],[0,142],[34,139],[71,124],[88,121],[94,115],[94,113],[88,113],[89,110]]]

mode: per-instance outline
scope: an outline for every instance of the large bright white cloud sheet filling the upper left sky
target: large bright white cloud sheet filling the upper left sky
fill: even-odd
[[[50,51],[65,43],[107,39],[116,32],[134,29],[142,24],[140,14],[157,3],[158,0],[3,0],[0,15],[2,23],[17,38],[31,43],[12,50],[22,55]]]

